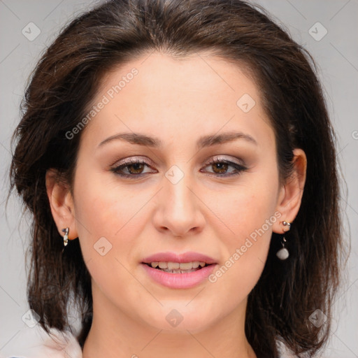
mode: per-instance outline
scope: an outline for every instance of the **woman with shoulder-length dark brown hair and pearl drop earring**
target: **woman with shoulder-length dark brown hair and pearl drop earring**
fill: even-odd
[[[34,217],[30,308],[46,331],[71,331],[70,303],[82,321],[66,354],[323,347],[341,219],[313,65],[238,0],[108,1],[62,31],[11,178]]]

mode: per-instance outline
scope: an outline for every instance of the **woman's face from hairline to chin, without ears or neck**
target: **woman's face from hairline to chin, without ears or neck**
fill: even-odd
[[[218,57],[155,52],[109,73],[93,106],[76,134],[71,230],[94,309],[192,332],[244,315],[287,220],[255,84]]]

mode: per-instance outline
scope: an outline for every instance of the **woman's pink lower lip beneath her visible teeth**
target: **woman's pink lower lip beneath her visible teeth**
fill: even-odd
[[[169,273],[152,268],[146,264],[142,264],[145,271],[155,282],[170,288],[191,288],[199,285],[208,278],[210,273],[213,273],[215,264],[205,266],[197,271],[189,273]]]

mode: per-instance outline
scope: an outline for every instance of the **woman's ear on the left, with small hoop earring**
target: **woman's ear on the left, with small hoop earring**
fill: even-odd
[[[46,172],[45,183],[52,217],[59,234],[64,236],[62,229],[69,227],[69,240],[77,238],[75,208],[69,185],[59,179],[59,173],[55,169]]]

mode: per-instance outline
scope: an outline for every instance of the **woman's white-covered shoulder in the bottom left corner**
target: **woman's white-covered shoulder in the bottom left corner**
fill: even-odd
[[[7,355],[1,358],[82,358],[78,341],[70,332],[51,329],[48,335],[41,328],[24,329],[17,334]]]

